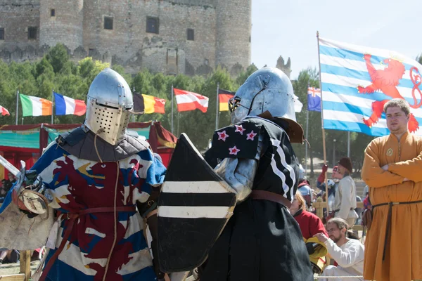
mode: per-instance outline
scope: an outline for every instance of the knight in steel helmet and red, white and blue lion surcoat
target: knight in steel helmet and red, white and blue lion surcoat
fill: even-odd
[[[32,167],[32,191],[56,209],[41,280],[157,280],[141,216],[153,217],[165,166],[127,132],[132,107],[127,82],[103,70],[89,88],[84,124],[58,136]],[[16,190],[13,202],[41,223],[42,210],[25,208]]]

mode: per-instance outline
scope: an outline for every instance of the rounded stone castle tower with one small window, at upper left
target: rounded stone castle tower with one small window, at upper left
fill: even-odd
[[[84,0],[40,0],[39,46],[83,46]]]

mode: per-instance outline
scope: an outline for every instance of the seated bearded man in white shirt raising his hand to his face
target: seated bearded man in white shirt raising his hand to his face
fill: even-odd
[[[343,218],[331,218],[327,222],[324,233],[316,233],[319,241],[324,242],[328,254],[337,266],[327,266],[321,276],[362,276],[364,273],[364,244],[359,240],[347,238],[347,222]],[[324,281],[340,281],[337,279],[321,279]],[[363,281],[362,277],[347,278],[347,281]]]

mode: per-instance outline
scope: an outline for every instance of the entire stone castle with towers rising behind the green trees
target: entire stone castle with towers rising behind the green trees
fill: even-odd
[[[236,76],[250,65],[251,5],[251,0],[0,0],[0,59],[37,60],[62,43],[72,60],[91,56],[129,73],[146,67],[201,75],[221,65]]]

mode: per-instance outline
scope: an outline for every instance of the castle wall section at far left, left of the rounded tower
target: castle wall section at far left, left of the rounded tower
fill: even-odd
[[[0,27],[4,28],[4,40],[0,49],[38,48],[39,46],[39,0],[0,0]],[[37,39],[28,39],[28,27],[37,27]]]

